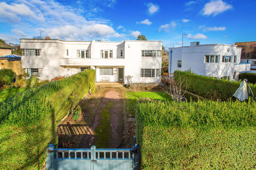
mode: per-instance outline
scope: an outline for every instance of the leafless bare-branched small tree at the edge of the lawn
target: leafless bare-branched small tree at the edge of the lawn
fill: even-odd
[[[160,87],[163,91],[172,96],[176,102],[178,102],[184,99],[183,96],[186,93],[187,82],[183,76],[180,77],[180,75],[178,75],[176,80],[174,77],[163,75],[161,77],[162,85]]]

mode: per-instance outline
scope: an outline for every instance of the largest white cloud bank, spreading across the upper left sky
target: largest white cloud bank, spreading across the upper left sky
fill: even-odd
[[[107,40],[125,36],[117,33],[109,20],[99,17],[90,17],[90,20],[87,20],[83,16],[84,11],[74,6],[64,6],[54,0],[17,2],[20,3],[0,3],[1,20],[12,23],[13,26],[14,36],[4,34],[10,41],[15,38],[15,42],[19,42],[20,38],[32,38],[40,35],[40,31],[45,31],[44,35],[48,35],[50,31],[49,35],[52,39],[61,40],[84,41],[102,38]],[[106,6],[114,3],[115,0],[110,0]],[[21,20],[22,23],[19,22]]]

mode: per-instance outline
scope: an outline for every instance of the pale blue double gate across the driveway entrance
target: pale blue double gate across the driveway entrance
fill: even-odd
[[[132,149],[59,149],[49,144],[47,170],[139,170],[140,147]]]

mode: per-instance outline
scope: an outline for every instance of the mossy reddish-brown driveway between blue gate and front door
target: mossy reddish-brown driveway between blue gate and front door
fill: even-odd
[[[124,148],[131,147],[131,132],[125,116],[125,88],[97,88],[79,105],[81,119],[74,122],[68,116],[58,126],[58,147],[66,148]],[[128,137],[130,136],[130,137]]]

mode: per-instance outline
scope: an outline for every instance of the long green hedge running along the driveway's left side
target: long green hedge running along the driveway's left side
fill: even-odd
[[[0,169],[41,169],[47,144],[58,143],[56,125],[94,82],[86,70],[0,102]]]

